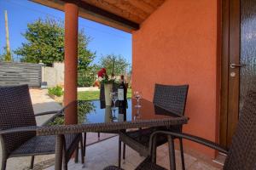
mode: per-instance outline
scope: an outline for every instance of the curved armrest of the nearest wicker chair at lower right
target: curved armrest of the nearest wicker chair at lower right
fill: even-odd
[[[186,133],[172,133],[172,132],[168,132],[168,131],[156,131],[154,133],[151,134],[150,136],[150,143],[149,143],[149,150],[152,148],[152,142],[153,141],[153,138],[156,134],[159,134],[159,133],[162,133],[162,134],[166,134],[166,135],[171,135],[172,137],[177,137],[177,138],[182,138],[182,139],[188,139],[190,141],[193,141],[195,143],[198,143],[198,144],[203,144],[207,147],[210,147],[214,150],[218,150],[224,154],[228,154],[228,151],[227,149],[225,149],[224,147],[220,146],[219,144],[216,144],[210,140],[207,140],[207,139],[203,139],[203,138],[200,138],[200,137],[197,137],[197,136],[194,136],[194,135],[190,135],[190,134],[186,134]],[[151,153],[151,152],[149,152]]]

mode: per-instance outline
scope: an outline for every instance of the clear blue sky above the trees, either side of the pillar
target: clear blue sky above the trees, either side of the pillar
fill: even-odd
[[[0,0],[0,54],[5,47],[4,10],[9,17],[10,48],[20,47],[25,38],[21,36],[26,31],[26,25],[39,17],[64,20],[64,13],[27,0]],[[96,51],[96,59],[105,54],[121,54],[131,63],[131,34],[103,26],[96,22],[79,18],[79,29],[84,28],[85,34],[92,38],[89,47]]]

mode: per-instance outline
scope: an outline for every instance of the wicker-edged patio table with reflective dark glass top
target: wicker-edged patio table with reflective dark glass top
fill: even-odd
[[[127,101],[126,113],[119,114],[117,108],[113,111],[111,106],[101,109],[99,100],[73,101],[61,112],[76,105],[78,107],[79,123],[75,125],[53,125],[47,127],[27,127],[26,130],[36,130],[37,135],[56,135],[55,143],[55,169],[61,170],[62,148],[64,134],[86,133],[86,132],[113,132],[129,128],[140,127],[164,127],[171,125],[182,125],[189,121],[186,116],[173,114],[166,111],[160,105],[154,105],[146,99],[140,100],[141,107],[137,107],[136,99]],[[57,117],[63,115],[57,115]],[[26,128],[26,127],[24,127]],[[19,129],[17,129],[19,131]]]

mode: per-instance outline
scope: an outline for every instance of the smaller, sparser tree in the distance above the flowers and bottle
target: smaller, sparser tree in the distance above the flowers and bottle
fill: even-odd
[[[114,63],[114,69],[113,69]],[[106,56],[102,56],[98,65],[95,65],[96,70],[100,70],[101,68],[106,68],[107,74],[111,75],[112,71],[114,75],[125,74],[128,66],[130,64],[128,61],[121,55],[108,54]]]

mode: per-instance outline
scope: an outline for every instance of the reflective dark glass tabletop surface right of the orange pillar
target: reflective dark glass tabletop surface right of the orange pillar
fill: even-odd
[[[163,119],[179,117],[159,105],[154,105],[146,99],[128,99],[125,110],[119,107],[106,106],[101,108],[100,100],[76,101],[72,105],[78,106],[79,124],[102,122],[132,122],[137,120]],[[139,105],[139,106],[138,106]],[[181,116],[180,116],[181,117]]]

